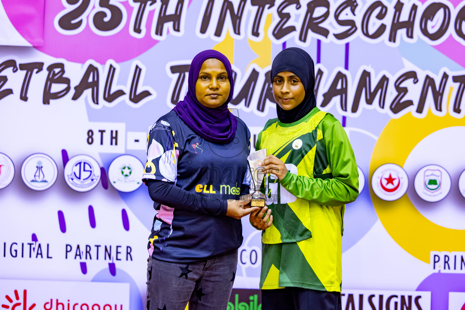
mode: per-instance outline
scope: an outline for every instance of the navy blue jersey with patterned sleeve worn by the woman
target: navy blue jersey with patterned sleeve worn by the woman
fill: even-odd
[[[239,199],[246,176],[250,132],[237,119],[235,138],[228,144],[202,139],[173,110],[150,129],[143,179],[171,183],[188,191],[199,204],[153,204],[148,251],[168,262],[195,262],[239,248],[241,221],[226,216],[227,199]],[[194,207],[194,205],[196,205]]]

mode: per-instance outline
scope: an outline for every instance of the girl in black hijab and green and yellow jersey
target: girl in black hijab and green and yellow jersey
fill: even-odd
[[[265,230],[262,309],[339,310],[345,204],[359,194],[355,157],[339,121],[316,107],[310,55],[288,48],[271,73],[278,118],[266,123],[256,144],[268,155],[267,206],[250,215]]]

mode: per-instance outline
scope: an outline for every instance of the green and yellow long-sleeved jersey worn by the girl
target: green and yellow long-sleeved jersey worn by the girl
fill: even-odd
[[[273,223],[262,235],[260,288],[340,291],[345,204],[359,194],[344,128],[314,108],[291,124],[270,119],[256,143],[263,148],[288,172],[281,181],[267,175],[262,184]]]

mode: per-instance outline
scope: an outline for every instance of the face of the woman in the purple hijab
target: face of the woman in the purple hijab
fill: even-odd
[[[216,58],[206,59],[195,83],[197,100],[208,108],[223,105],[229,97],[231,84],[225,65]]]

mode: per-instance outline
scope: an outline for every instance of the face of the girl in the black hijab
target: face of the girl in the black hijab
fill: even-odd
[[[273,97],[283,110],[292,110],[304,100],[305,87],[299,77],[283,71],[273,78]]]

